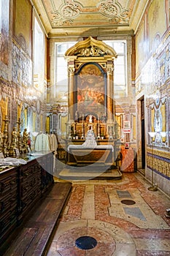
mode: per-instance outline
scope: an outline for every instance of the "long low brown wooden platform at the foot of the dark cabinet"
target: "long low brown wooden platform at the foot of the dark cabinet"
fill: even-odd
[[[71,183],[56,182],[47,197],[39,200],[26,221],[15,230],[8,244],[1,247],[0,255],[46,255],[71,190]],[[4,254],[1,254],[5,249]]]

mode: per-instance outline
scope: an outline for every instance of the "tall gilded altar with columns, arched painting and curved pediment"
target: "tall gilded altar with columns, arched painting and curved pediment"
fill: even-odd
[[[69,48],[66,163],[71,166],[116,165],[117,122],[114,59],[117,53],[101,40],[88,37]]]

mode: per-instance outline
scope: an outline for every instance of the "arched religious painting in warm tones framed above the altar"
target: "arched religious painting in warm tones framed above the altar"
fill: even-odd
[[[104,116],[106,107],[106,74],[98,64],[85,64],[76,75],[77,112]]]

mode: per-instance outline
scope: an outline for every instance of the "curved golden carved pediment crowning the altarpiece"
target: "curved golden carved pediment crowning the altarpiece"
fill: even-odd
[[[66,51],[65,56],[99,57],[99,56],[117,57],[115,50],[102,41],[93,37],[88,37],[81,42],[77,42],[72,48]]]

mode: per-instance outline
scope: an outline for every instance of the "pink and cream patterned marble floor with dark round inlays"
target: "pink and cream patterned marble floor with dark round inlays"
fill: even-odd
[[[140,173],[73,181],[47,256],[170,255],[170,200],[148,187]]]

